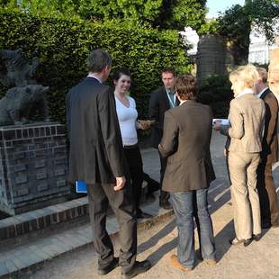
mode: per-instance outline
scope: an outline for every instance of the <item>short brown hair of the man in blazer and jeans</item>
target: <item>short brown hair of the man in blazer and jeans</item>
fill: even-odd
[[[182,100],[195,100],[198,86],[196,78],[191,74],[179,76],[175,81],[175,90]]]

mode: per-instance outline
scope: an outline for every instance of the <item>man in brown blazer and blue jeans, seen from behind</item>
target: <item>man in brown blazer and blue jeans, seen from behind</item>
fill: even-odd
[[[216,264],[207,190],[215,179],[211,163],[211,108],[196,103],[195,77],[185,74],[175,83],[180,105],[165,112],[164,135],[159,144],[162,157],[167,157],[163,190],[170,193],[178,227],[177,256],[173,266],[188,271],[194,266],[193,196],[201,227],[202,257]]]

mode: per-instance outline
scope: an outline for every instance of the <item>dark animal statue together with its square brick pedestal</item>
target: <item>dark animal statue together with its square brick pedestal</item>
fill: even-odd
[[[9,88],[0,100],[0,211],[14,215],[67,200],[67,148],[65,127],[49,121],[49,87],[33,78],[38,58],[30,63],[22,49],[0,58]]]

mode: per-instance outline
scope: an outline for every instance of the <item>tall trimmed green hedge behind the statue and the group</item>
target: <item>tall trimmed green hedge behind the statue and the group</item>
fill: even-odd
[[[85,60],[92,49],[109,51],[112,69],[130,68],[130,94],[136,98],[139,117],[147,117],[149,94],[161,84],[163,67],[172,66],[178,72],[190,69],[177,31],[160,32],[129,23],[85,23],[0,9],[0,49],[19,48],[27,58],[40,59],[36,79],[49,85],[51,118],[60,122],[65,121],[67,91],[86,75]],[[108,83],[112,85],[111,80]],[[0,87],[0,94],[5,91]]]

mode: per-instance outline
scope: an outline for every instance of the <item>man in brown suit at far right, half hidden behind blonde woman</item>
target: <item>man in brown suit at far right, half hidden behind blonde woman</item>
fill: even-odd
[[[279,226],[279,209],[275,184],[272,176],[272,164],[278,161],[277,118],[278,102],[266,85],[267,72],[264,67],[257,67],[260,79],[256,85],[259,98],[266,105],[265,132],[262,142],[261,161],[257,167],[257,191],[261,208],[262,228]]]

